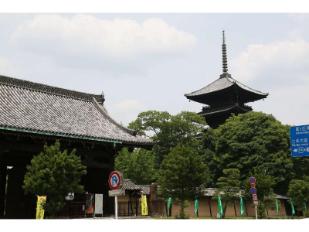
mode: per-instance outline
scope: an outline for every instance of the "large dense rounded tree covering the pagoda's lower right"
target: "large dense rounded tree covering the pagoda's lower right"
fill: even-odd
[[[259,167],[274,177],[278,193],[286,193],[294,175],[288,126],[271,115],[248,112],[230,117],[212,133],[214,152],[208,154],[206,161],[214,160],[215,180],[221,176],[221,170],[237,168],[245,181]]]

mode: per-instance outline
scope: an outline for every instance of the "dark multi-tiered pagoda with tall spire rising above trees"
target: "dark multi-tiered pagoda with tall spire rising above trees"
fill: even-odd
[[[199,113],[204,116],[208,125],[216,128],[225,122],[232,114],[242,114],[252,111],[245,103],[266,98],[268,93],[252,89],[232,78],[228,73],[226,44],[223,31],[222,44],[223,73],[219,79],[202,89],[185,94],[189,100],[205,104]]]

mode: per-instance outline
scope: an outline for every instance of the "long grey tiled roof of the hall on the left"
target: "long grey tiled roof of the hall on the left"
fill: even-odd
[[[0,131],[151,145],[113,120],[104,97],[0,76]]]

